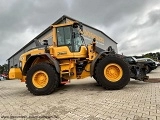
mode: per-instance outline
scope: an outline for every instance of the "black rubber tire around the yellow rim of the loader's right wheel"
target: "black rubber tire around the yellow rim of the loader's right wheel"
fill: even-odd
[[[105,67],[107,65],[115,64],[121,68],[121,77],[117,81],[111,81],[105,77]],[[117,69],[117,68],[116,68]],[[130,81],[130,72],[128,64],[121,58],[113,56],[105,56],[102,58],[95,67],[95,76],[98,83],[108,90],[119,90],[125,87]]]

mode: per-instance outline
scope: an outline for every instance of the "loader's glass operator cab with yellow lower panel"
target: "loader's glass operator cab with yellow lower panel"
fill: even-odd
[[[81,35],[82,30],[83,28],[78,23],[56,27],[58,52],[66,52],[66,55],[70,57],[86,57],[87,48]]]

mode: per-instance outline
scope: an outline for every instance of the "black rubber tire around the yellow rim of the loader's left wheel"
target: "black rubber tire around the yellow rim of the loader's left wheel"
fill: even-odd
[[[48,79],[47,79],[48,82],[42,88],[35,86],[32,80],[34,74],[38,71],[42,71],[46,73],[46,75],[48,76]],[[58,84],[59,84],[58,78],[59,76],[54,66],[51,66],[50,64],[47,64],[47,63],[40,63],[40,64],[33,66],[27,72],[26,87],[34,95],[48,95],[48,94],[53,93],[57,89]]]

